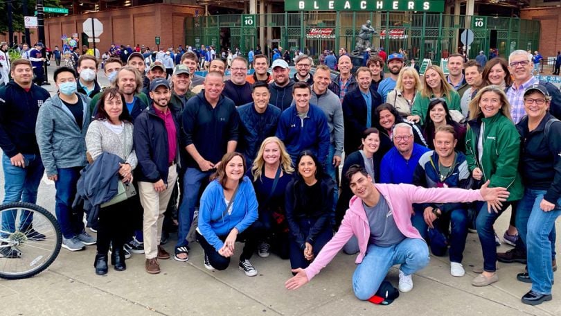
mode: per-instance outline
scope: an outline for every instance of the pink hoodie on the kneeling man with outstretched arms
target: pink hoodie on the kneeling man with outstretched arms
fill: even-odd
[[[407,238],[421,238],[419,232],[411,224],[413,203],[446,203],[482,201],[479,190],[464,190],[462,188],[422,188],[411,184],[374,184],[388,202],[393,213],[395,225]],[[355,263],[362,263],[370,238],[370,224],[366,218],[366,211],[362,207],[362,200],[353,196],[349,202],[341,227],[337,234],[323,246],[315,260],[305,269],[308,280],[311,280],[337,255],[337,252],[353,236],[357,236],[359,254]]]

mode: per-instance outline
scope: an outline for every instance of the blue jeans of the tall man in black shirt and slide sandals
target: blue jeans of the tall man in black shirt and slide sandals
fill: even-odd
[[[183,247],[189,244],[187,234],[195,214],[195,206],[199,201],[199,190],[204,178],[208,179],[212,173],[212,171],[203,172],[197,168],[187,168],[183,177],[183,190],[181,191],[183,200],[181,200],[177,213],[179,227],[177,228],[177,245],[175,247]]]

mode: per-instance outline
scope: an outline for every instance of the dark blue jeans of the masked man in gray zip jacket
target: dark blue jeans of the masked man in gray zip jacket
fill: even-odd
[[[72,207],[76,196],[76,184],[80,179],[82,167],[57,168],[58,179],[55,181],[57,193],[55,195],[55,213],[57,215],[62,236],[73,238],[84,231],[84,209]]]

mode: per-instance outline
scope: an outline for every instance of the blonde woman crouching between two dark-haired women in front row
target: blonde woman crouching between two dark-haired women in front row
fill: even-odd
[[[285,221],[285,191],[293,172],[292,159],[281,139],[266,138],[249,175],[259,203],[259,218],[253,226],[259,231],[257,254],[262,258],[269,256],[271,246],[278,256],[288,258],[290,244]]]

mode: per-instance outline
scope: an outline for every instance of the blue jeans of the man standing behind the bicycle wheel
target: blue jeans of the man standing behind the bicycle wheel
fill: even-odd
[[[25,168],[12,166],[10,158],[2,155],[2,169],[4,171],[4,200],[9,202],[37,202],[37,188],[44,173],[41,156],[35,154],[24,155]],[[2,231],[14,232],[17,210],[2,212]],[[27,230],[33,222],[33,213],[23,211],[19,215],[19,229]]]

